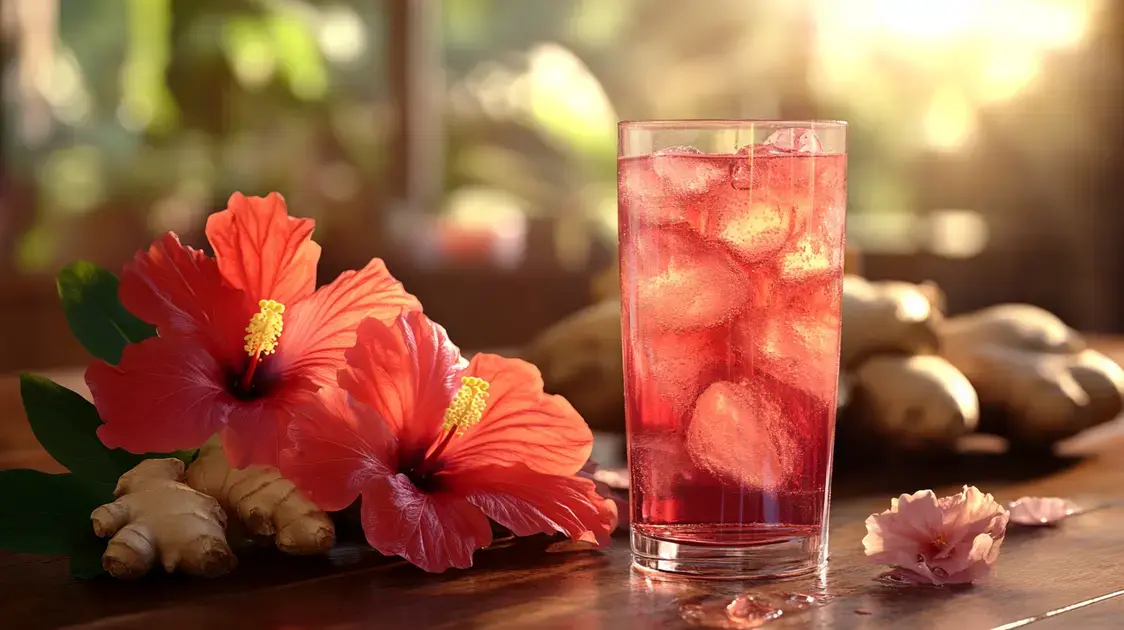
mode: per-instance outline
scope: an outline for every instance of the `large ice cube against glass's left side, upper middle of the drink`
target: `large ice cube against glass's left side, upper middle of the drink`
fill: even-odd
[[[725,249],[685,228],[649,228],[622,252],[626,284],[635,284],[633,309],[658,328],[706,328],[740,313],[747,277]],[[626,286],[626,290],[627,286]]]

